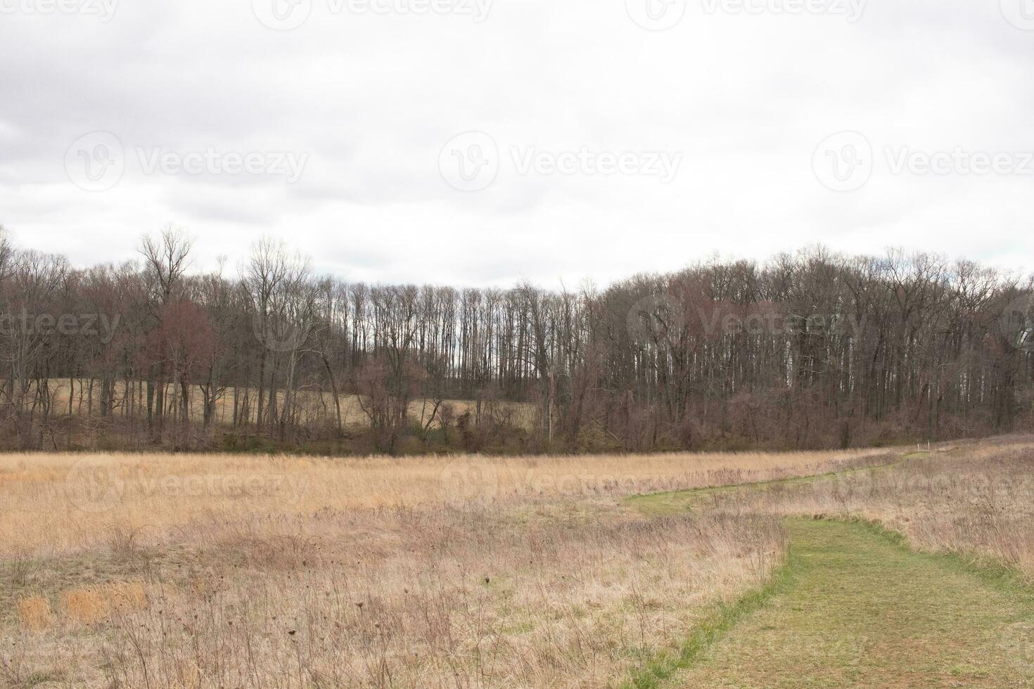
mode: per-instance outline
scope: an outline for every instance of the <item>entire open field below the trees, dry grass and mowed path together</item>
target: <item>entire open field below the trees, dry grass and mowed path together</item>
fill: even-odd
[[[1027,686],[1034,438],[933,449],[6,455],[0,677]]]

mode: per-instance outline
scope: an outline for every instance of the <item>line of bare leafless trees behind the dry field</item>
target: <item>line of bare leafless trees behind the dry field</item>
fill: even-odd
[[[970,261],[812,248],[457,289],[317,276],[272,240],[210,274],[180,230],[139,249],[80,270],[2,234],[4,447],[820,448],[1034,418],[1034,285]]]

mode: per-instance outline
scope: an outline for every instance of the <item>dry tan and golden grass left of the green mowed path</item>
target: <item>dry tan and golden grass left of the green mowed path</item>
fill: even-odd
[[[777,519],[642,492],[840,453],[0,458],[12,686],[595,687],[763,582]]]

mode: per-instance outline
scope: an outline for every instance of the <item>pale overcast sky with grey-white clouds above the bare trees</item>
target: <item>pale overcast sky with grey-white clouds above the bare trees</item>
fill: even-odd
[[[0,0],[0,223],[348,279],[1034,257],[1034,0]]]

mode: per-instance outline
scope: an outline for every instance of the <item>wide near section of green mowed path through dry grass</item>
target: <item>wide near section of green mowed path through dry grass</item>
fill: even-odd
[[[789,520],[789,578],[674,687],[1034,687],[1034,595],[865,524]]]

